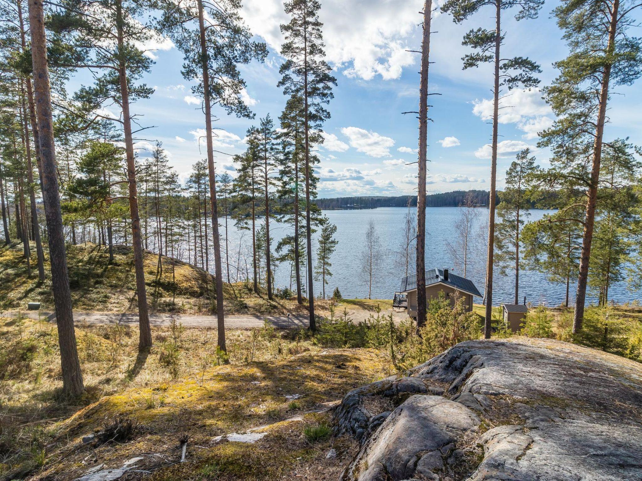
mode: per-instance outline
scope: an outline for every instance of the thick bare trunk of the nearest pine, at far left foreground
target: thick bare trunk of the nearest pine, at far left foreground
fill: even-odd
[[[49,239],[49,260],[51,263],[51,289],[56,308],[60,364],[62,367],[63,391],[79,396],[85,390],[76,350],[74,317],[71,307],[71,290],[65,255],[64,227],[60,212],[56,153],[53,144],[53,116],[51,114],[51,93],[47,65],[47,40],[44,29],[44,8],[42,0],[30,0],[29,24],[31,31],[31,60],[33,83],[37,105],[37,124],[42,163],[42,197],[44,199],[47,232]]]

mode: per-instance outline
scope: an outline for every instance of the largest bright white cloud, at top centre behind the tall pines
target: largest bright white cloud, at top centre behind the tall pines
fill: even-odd
[[[323,22],[327,60],[347,76],[383,80],[401,76],[417,57],[406,52],[414,44],[421,8],[416,2],[325,0],[319,11]],[[255,35],[265,38],[273,51],[280,51],[283,36],[279,24],[290,19],[282,0],[246,0],[243,18]]]

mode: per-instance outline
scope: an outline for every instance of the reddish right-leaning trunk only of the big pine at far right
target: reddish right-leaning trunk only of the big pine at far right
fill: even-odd
[[[609,24],[609,43],[607,56],[611,57],[615,48],[616,28],[618,26],[618,10],[620,0],[614,0],[611,8],[611,22]],[[584,235],[582,235],[582,253],[580,254],[580,272],[577,278],[577,294],[575,294],[575,315],[573,316],[573,333],[582,330],[584,321],[584,303],[586,302],[586,284],[589,277],[589,259],[591,258],[591,243],[593,242],[593,228],[595,224],[595,208],[598,196],[598,182],[600,180],[600,163],[602,162],[602,137],[604,135],[604,122],[606,118],[607,101],[609,99],[609,80],[611,78],[611,64],[607,63],[602,72],[602,90],[600,90],[600,104],[598,121],[593,142],[593,165],[591,166],[591,182],[586,193],[586,215],[584,217]]]

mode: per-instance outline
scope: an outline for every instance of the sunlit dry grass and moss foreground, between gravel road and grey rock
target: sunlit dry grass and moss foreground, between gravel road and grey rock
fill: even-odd
[[[160,453],[146,459],[143,468],[152,469],[155,479],[207,479],[197,474],[214,465],[218,479],[273,479],[304,472],[315,463],[324,466],[317,474],[330,478],[339,469],[337,460],[325,459],[330,441],[311,444],[303,435],[306,426],[329,418],[304,413],[391,373],[385,352],[322,350],[270,326],[230,330],[228,365],[218,365],[222,359],[216,351],[216,330],[155,328],[155,344],[144,355],[137,353],[137,335],[129,326],[77,326],[87,392],[81,400],[65,400],[60,395],[55,326],[0,320],[3,352],[35,346],[33,356],[20,366],[7,357],[0,362],[0,473],[8,478],[32,472],[35,479],[71,479],[94,464],[122,466],[141,453]],[[301,395],[297,403],[285,397],[290,394]],[[304,414],[301,421],[272,426],[257,444],[211,444],[216,435],[297,414]],[[82,444],[83,435],[122,417],[142,426],[133,441],[95,450]],[[185,434],[190,462],[169,466],[177,460],[178,438]],[[9,437],[18,441],[5,446]],[[343,451],[352,449],[345,440],[338,443],[347,443]],[[186,477],[187,471],[193,477]]]

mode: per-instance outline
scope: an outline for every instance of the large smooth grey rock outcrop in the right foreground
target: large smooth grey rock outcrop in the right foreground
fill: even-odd
[[[343,481],[642,480],[642,365],[566,342],[462,342],[349,392]]]

